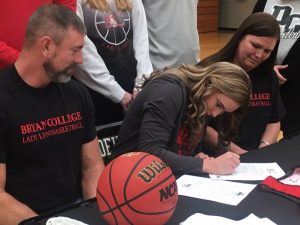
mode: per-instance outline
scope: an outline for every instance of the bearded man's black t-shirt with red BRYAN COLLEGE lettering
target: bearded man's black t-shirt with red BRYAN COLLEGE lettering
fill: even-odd
[[[93,105],[76,81],[33,88],[14,66],[0,74],[5,190],[36,212],[81,197],[81,147],[96,136]]]

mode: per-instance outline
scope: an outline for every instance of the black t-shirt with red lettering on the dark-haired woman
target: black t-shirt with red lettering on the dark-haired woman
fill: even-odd
[[[258,70],[248,73],[252,81],[249,109],[233,142],[244,149],[253,150],[258,148],[266,125],[280,121],[285,110],[276,75],[263,74]]]

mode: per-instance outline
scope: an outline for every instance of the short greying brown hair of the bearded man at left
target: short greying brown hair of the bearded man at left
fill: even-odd
[[[83,22],[72,10],[61,5],[45,4],[29,18],[25,46],[32,45],[42,36],[50,36],[55,44],[60,44],[65,32],[71,27],[83,35],[86,34]]]

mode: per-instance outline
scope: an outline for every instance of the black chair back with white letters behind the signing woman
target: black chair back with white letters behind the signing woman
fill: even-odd
[[[119,121],[96,127],[101,155],[105,165],[109,162],[109,157],[116,143],[122,122],[123,121]]]

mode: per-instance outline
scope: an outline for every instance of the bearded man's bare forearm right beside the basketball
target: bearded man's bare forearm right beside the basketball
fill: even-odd
[[[93,198],[96,196],[98,178],[105,167],[100,154],[98,138],[82,145],[81,163],[83,198]]]

